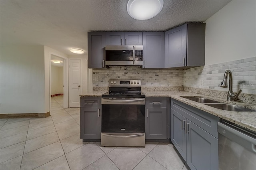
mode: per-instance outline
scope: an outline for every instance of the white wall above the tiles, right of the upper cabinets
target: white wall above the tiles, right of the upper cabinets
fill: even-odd
[[[205,65],[256,56],[255,0],[233,0],[205,23]]]

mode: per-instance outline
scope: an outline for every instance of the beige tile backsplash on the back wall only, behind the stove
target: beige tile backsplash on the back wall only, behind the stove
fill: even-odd
[[[108,87],[110,79],[139,79],[142,87],[181,87],[183,85],[183,70],[94,69],[93,77],[94,87]]]

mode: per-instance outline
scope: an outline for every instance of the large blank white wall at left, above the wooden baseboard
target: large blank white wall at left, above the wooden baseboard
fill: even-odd
[[[1,45],[1,113],[45,113],[44,46]]]

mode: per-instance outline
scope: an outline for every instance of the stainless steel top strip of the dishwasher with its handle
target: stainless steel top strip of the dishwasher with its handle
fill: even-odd
[[[224,123],[218,122],[218,133],[256,154],[256,138],[245,134],[242,130],[236,130]]]

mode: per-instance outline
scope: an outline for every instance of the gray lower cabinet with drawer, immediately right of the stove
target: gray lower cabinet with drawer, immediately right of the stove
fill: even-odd
[[[146,97],[145,138],[167,139],[166,97]]]

